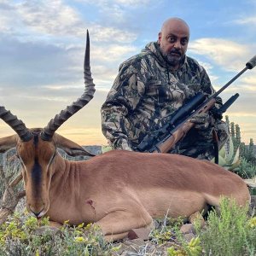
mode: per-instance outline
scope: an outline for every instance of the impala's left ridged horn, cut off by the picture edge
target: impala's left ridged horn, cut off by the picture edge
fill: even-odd
[[[28,142],[32,139],[32,133],[26,128],[26,125],[3,106],[0,106],[0,118],[15,130],[23,142]]]

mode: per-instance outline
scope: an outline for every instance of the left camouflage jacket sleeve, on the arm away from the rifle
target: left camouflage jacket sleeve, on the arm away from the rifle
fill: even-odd
[[[137,70],[131,63],[122,64],[107,100],[102,105],[102,133],[114,149],[131,150],[127,116],[137,108],[144,90]]]

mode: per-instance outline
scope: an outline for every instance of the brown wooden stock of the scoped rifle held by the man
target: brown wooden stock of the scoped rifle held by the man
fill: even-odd
[[[188,131],[195,125],[194,123],[190,122],[190,118],[197,113],[207,113],[207,111],[214,106],[215,102],[216,100],[212,98],[209,102],[195,111],[195,113],[192,113],[184,123],[177,125],[177,127],[174,128],[173,131],[171,131],[162,141],[160,141],[160,143],[156,143],[152,152],[169,152],[172,148],[174,148],[176,143],[185,137]]]

